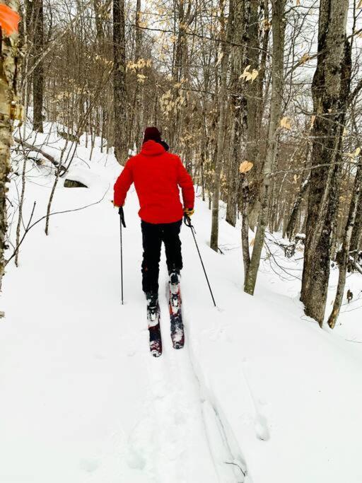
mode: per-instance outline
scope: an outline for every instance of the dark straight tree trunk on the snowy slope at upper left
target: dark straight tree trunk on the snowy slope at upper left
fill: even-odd
[[[33,0],[33,38],[34,38],[34,60],[37,62],[33,72],[33,109],[34,129],[43,132],[42,127],[42,106],[44,95],[44,62],[42,54],[44,51],[44,21],[43,21],[43,0]]]

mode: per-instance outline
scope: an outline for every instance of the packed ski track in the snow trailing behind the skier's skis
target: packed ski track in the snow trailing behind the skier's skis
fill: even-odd
[[[188,483],[198,474],[208,483],[252,483],[249,477],[245,479],[245,461],[233,432],[214,395],[211,396],[206,388],[200,369],[196,370],[185,305],[185,347],[172,348],[167,282],[165,285],[164,301],[160,291],[163,355],[153,359],[146,352],[144,354],[149,382],[145,407],[152,409],[148,421],[141,421],[141,424],[151,435],[148,443],[152,450],[148,451],[146,464],[143,462],[139,469],[146,468],[150,483]],[[162,281],[160,286],[163,286]],[[144,432],[140,437],[144,437]],[[133,446],[139,446],[136,433],[132,441]],[[133,459],[129,466],[132,464]]]

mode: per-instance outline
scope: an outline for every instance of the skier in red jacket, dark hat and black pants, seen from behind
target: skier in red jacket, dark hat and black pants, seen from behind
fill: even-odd
[[[170,283],[180,282],[182,252],[180,229],[184,215],[194,214],[194,185],[179,156],[168,152],[157,127],[147,127],[141,152],[129,158],[115,182],[115,206],[123,206],[134,183],[139,197],[143,261],[142,289],[148,308],[158,304],[161,245],[165,245]],[[180,202],[180,190],[182,201]]]

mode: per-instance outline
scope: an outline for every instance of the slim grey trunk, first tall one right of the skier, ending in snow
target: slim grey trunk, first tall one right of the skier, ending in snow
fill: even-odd
[[[223,168],[223,140],[225,132],[226,117],[226,83],[228,76],[228,63],[230,55],[230,39],[232,36],[233,26],[233,0],[230,0],[228,25],[226,29],[226,42],[223,42],[223,57],[221,59],[221,86],[219,93],[219,111],[218,111],[218,138],[216,146],[216,163],[215,163],[215,179],[212,195],[212,224],[210,246],[216,252],[218,251],[218,202],[220,199],[220,183],[221,171]]]

